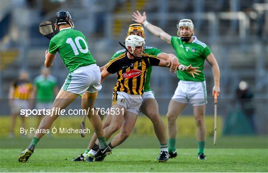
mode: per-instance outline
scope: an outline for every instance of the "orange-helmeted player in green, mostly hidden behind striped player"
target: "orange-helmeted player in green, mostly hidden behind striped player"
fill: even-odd
[[[145,39],[144,29],[143,29],[142,25],[138,24],[138,23],[131,24],[129,26],[128,35],[138,35],[138,36],[143,37]],[[164,59],[164,60],[169,61],[171,64],[171,66],[170,66],[171,71],[175,72],[179,66],[179,61],[178,61],[177,57],[173,54],[166,54],[157,48],[147,47],[147,46],[143,47],[143,52],[147,53],[148,55],[154,55],[159,59]],[[113,60],[113,59],[117,58],[118,56],[125,54],[125,53],[126,53],[126,49],[117,51],[113,55],[111,60]],[[103,69],[104,69],[104,66],[101,67],[101,70],[103,70]],[[141,104],[140,110],[142,111],[142,113],[144,113],[152,121],[155,134],[158,137],[158,140],[160,142],[160,150],[161,151],[160,151],[160,155],[157,159],[160,161],[163,161],[163,160],[166,161],[168,159],[168,147],[167,147],[167,138],[166,138],[166,133],[165,133],[165,126],[164,126],[162,119],[159,116],[158,104],[154,98],[154,92],[150,88],[151,72],[152,72],[152,66],[150,66],[148,68],[147,73],[146,73],[146,81],[144,83],[144,93],[142,94],[142,104]],[[103,127],[108,126],[109,123],[110,123],[110,115],[108,114],[108,116],[106,117],[105,122],[103,124]],[[89,144],[89,146],[86,149],[86,151],[84,152],[84,154],[77,156],[77,158],[73,159],[72,161],[83,161],[84,158],[86,159],[86,161],[93,161],[92,155],[95,154],[95,152],[91,151],[89,153],[89,151],[90,151],[90,149],[92,149],[93,145],[95,144],[95,141],[96,141],[96,136],[94,135],[92,137],[91,143]],[[88,153],[89,153],[89,155],[87,155]],[[99,159],[95,159],[95,160],[98,161]]]

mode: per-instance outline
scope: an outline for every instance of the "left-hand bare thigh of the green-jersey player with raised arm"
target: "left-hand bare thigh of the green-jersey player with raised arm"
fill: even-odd
[[[186,106],[187,103],[181,103],[171,99],[168,105],[167,118],[176,119],[186,108]]]

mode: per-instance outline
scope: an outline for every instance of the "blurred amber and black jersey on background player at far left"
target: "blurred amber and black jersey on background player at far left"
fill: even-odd
[[[13,98],[28,99],[32,91],[32,84],[29,81],[17,80],[12,86],[14,87]]]

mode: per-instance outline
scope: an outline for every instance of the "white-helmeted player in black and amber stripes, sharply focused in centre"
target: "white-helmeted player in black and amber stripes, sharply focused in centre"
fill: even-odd
[[[166,60],[143,53],[145,41],[140,36],[130,35],[127,37],[125,43],[128,52],[111,60],[101,72],[102,79],[110,74],[117,73],[118,81],[113,90],[111,109],[122,110],[116,115],[110,113],[110,124],[104,129],[105,137],[109,139],[112,134],[121,128],[120,133],[117,134],[109,144],[110,148],[114,148],[123,143],[134,128],[142,103],[141,95],[144,92],[146,73],[149,66],[167,67],[169,64]],[[198,72],[196,70],[197,68],[185,68],[191,74]],[[96,145],[94,147],[96,147]],[[98,151],[94,155],[95,158],[98,156]],[[161,162],[166,162],[166,160]]]

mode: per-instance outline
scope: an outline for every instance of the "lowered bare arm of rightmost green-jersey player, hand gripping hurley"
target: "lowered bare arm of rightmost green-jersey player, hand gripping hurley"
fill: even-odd
[[[214,93],[216,93],[217,95],[219,95],[220,93],[220,71],[219,71],[219,66],[217,63],[217,60],[215,59],[214,55],[212,53],[210,53],[207,57],[206,57],[206,61],[210,64],[210,66],[212,67],[212,73],[213,73],[213,78],[214,78],[214,86],[212,89],[212,95],[214,95]]]

